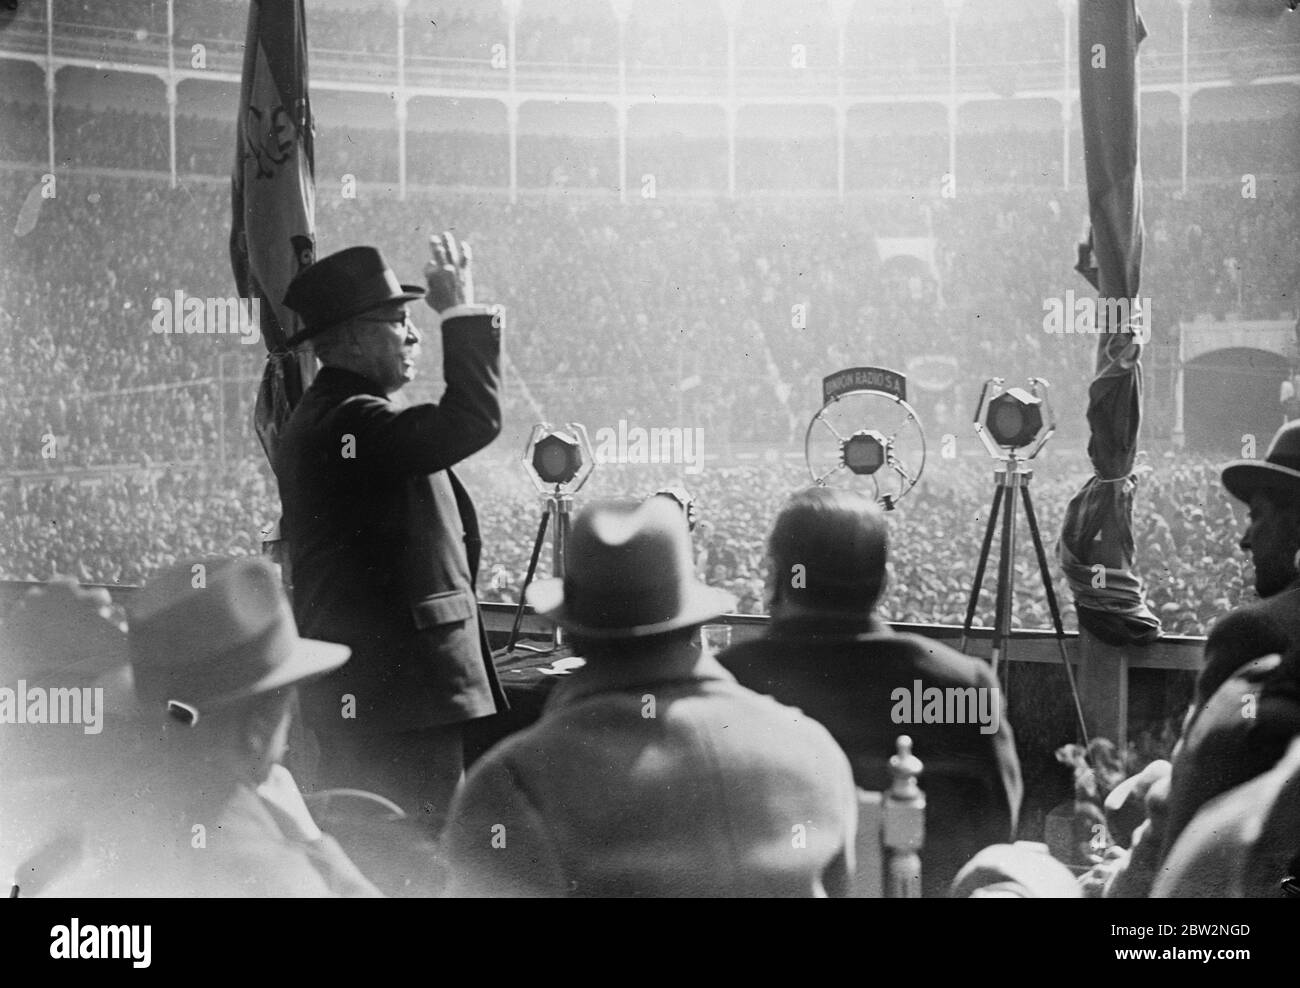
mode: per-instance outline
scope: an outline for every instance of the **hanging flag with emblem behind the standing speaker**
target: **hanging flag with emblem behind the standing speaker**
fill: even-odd
[[[307,92],[303,0],[251,0],[231,177],[230,263],[239,295],[257,307],[266,365],[255,425],[268,459],[315,373],[285,341],[299,330],[282,299],[316,256],[316,165]]]

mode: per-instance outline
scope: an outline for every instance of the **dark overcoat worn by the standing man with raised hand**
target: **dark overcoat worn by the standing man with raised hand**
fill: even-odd
[[[474,593],[478,521],[451,472],[500,432],[499,318],[445,318],[442,346],[437,404],[403,406],[326,367],[281,438],[294,616],[304,637],[352,649],[302,688],[316,731],[417,731],[507,707]]]

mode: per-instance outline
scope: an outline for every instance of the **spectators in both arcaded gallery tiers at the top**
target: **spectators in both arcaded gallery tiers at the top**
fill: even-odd
[[[1234,17],[1227,5],[1196,5],[1191,12],[1193,72],[1206,66],[1226,65],[1234,78],[1253,78],[1242,68],[1243,60],[1264,57],[1273,52],[1278,65],[1295,64],[1300,51],[1300,20]],[[222,43],[222,49],[237,58],[243,42],[243,4],[233,0],[218,3],[186,3],[177,5],[178,44],[188,51],[199,40]],[[43,8],[29,4],[20,17],[39,20]],[[161,0],[136,0],[109,10],[86,0],[61,0],[55,5],[56,22],[66,30],[74,26],[94,32],[116,32],[124,44],[136,43],[138,35],[153,38],[165,31],[166,5]],[[1144,4],[1143,13],[1152,31],[1144,57],[1171,55],[1182,38],[1182,12],[1175,0]],[[985,3],[970,0],[963,6],[957,35],[962,88],[982,88],[1011,95],[1026,87],[1054,86],[1061,53],[1061,22],[1056,8],[1030,3]],[[498,5],[464,3],[410,3],[404,8],[410,70],[419,82],[421,61],[439,62],[454,70],[455,64],[499,64],[506,26]],[[322,61],[317,73],[347,75],[358,66],[365,72],[395,72],[390,53],[395,46],[396,10],[390,4],[376,3],[356,12],[333,4],[311,5],[308,20],[313,47],[321,48]],[[888,12],[859,4],[845,32],[845,65],[850,73],[850,92],[879,90],[880,86],[911,86],[914,91],[946,91],[942,72],[948,58],[948,32],[944,8],[910,5],[906,10]],[[634,5],[627,30],[630,78],[653,79],[656,66],[675,69],[711,68],[719,72],[727,43],[722,6],[705,5]],[[1035,43],[1035,40],[1037,43]],[[604,0],[582,4],[524,4],[517,30],[517,55],[521,68],[541,73],[542,88],[582,84],[586,72],[589,84],[597,91],[614,92],[616,79],[608,68],[618,43],[616,25]],[[114,49],[117,51],[117,49]],[[806,98],[824,96],[835,84],[818,74],[837,61],[837,39],[828,9],[788,8],[770,0],[749,0],[737,25],[737,65],[742,91],[751,84],[764,86],[764,92],[780,91]],[[792,51],[796,52],[792,55]],[[348,60],[354,52],[358,58]],[[1274,57],[1269,56],[1269,57]],[[334,58],[332,62],[330,60]],[[792,61],[809,68],[792,66]],[[226,68],[237,68],[231,61]],[[1162,62],[1164,65],[1164,62]],[[369,66],[367,69],[365,66]],[[577,75],[549,77],[547,72],[571,68]],[[459,69],[464,69],[460,65]],[[458,69],[458,70],[459,70]],[[491,69],[495,72],[495,69]],[[1264,74],[1275,74],[1278,66]],[[927,75],[926,73],[930,73]],[[641,74],[638,74],[641,73]],[[862,78],[852,77],[858,73]],[[937,74],[936,74],[937,73]],[[1045,73],[1045,74],[1044,74]],[[931,78],[933,77],[933,78]],[[690,77],[684,83],[692,95],[722,90]],[[939,79],[940,83],[935,83]],[[464,77],[430,77],[433,82],[478,86],[485,95],[499,88],[486,78],[465,82]],[[714,79],[716,83],[716,79]],[[866,87],[866,90],[863,90]],[[927,88],[928,87],[928,88]],[[653,84],[653,91],[662,90]],[[637,90],[640,91],[640,90]],[[1262,104],[1286,99],[1261,87]],[[1270,109],[1247,110],[1244,116],[1271,114],[1269,122],[1242,120],[1225,110],[1212,87],[1192,95],[1188,134],[1188,178],[1201,182],[1222,181],[1228,176],[1271,177],[1295,170],[1294,148],[1300,140],[1300,114],[1278,117]],[[60,94],[61,95],[61,94]],[[225,174],[229,169],[230,125],[186,114],[185,91],[181,92],[178,129],[178,169],[182,173]],[[1262,105],[1261,104],[1261,105]],[[978,100],[958,112],[957,174],[962,190],[988,185],[1044,188],[1061,183],[1063,162],[1062,138],[1054,104],[1026,101],[1030,113],[1024,120],[1009,117],[1014,124],[991,126],[983,118],[989,104]],[[1243,104],[1247,105],[1247,104]],[[1254,100],[1249,100],[1254,105]],[[854,191],[880,187],[909,192],[933,192],[949,170],[946,121],[936,100],[909,104],[907,117],[885,124],[875,116],[878,104],[853,107],[845,150],[845,185]],[[725,142],[722,107],[715,131],[701,131],[698,124],[682,124],[684,133],[640,131],[632,110],[629,130],[628,176],[636,192],[641,176],[650,174],[663,194],[720,194],[727,190]],[[828,107],[803,108],[805,120],[818,126],[801,138],[780,136],[764,124],[760,110],[742,107],[738,114],[737,188],[751,191],[812,191],[829,194],[837,188],[835,125]],[[888,109],[888,108],[885,108]],[[17,126],[5,135],[4,157],[18,161],[43,161],[43,112],[27,104],[5,104],[5,116],[14,114]],[[913,112],[915,110],[915,113]],[[590,117],[584,124],[586,136],[554,133],[549,104],[525,103],[520,110],[521,138],[519,147],[519,183],[524,188],[590,188],[608,191],[618,182],[616,136],[612,107],[593,105],[584,110]],[[1182,178],[1182,133],[1176,122],[1176,100],[1167,92],[1150,92],[1143,105],[1143,164],[1145,177],[1156,182]],[[58,105],[56,114],[56,160],[65,165],[95,164],[108,168],[165,170],[168,166],[166,122],[161,87],[152,110],[143,104],[133,110],[98,109]],[[330,108],[317,108],[317,165],[334,179],[343,174],[363,182],[391,185],[398,181],[399,165],[393,131],[393,114],[367,118],[364,126],[355,120],[333,118]],[[421,99],[411,104],[408,127],[408,179],[437,186],[500,187],[507,183],[508,153],[503,133],[464,134],[430,130],[445,126],[442,113],[425,118]],[[533,121],[532,125],[529,121]],[[436,122],[437,121],[437,122]],[[1071,179],[1083,176],[1082,136],[1078,118],[1070,135]],[[10,127],[6,126],[5,131]],[[541,135],[534,130],[541,130]],[[998,133],[993,133],[993,131]],[[500,131],[504,131],[502,121]],[[602,133],[603,136],[592,136]],[[10,143],[12,142],[12,143]],[[448,152],[448,146],[455,152]],[[91,161],[94,159],[94,161]]]

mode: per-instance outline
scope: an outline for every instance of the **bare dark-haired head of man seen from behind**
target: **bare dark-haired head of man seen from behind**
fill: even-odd
[[[884,514],[866,495],[833,488],[792,495],[767,540],[772,614],[870,614],[888,551]]]

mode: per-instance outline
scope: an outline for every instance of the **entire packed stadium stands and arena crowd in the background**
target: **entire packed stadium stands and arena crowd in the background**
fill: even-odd
[[[195,46],[217,74],[237,68],[242,6],[177,3],[169,46],[165,3],[113,5],[110,14],[92,3],[53,4],[53,51],[69,60],[56,62],[52,199],[30,195],[51,152],[44,5],[22,5],[0,35],[0,70],[25,83],[6,87],[0,144],[12,217],[0,311],[10,381],[0,403],[12,425],[3,447],[12,482],[0,511],[6,576],[138,582],[177,555],[256,551],[257,525],[276,515],[250,426],[261,347],[150,332],[160,295],[229,294],[230,83],[192,74],[178,82],[174,181],[165,86],[169,49],[182,68]],[[398,125],[391,109],[372,112],[391,100],[337,88],[398,70],[395,10],[403,8],[407,82],[464,90],[412,95],[404,195],[395,187]],[[805,16],[749,4],[731,62],[722,6],[672,9],[690,21],[689,48],[667,16],[634,9],[620,23],[604,3],[523,4],[514,86],[532,92],[511,109],[519,120],[512,185],[498,100],[503,73],[493,65],[494,46],[508,34],[503,8],[381,4],[359,18],[311,5],[320,248],[381,243],[399,268],[416,270],[426,234],[442,222],[478,247],[482,290],[508,307],[514,326],[507,354],[520,386],[510,389],[502,443],[511,451],[542,416],[593,430],[619,419],[703,428],[719,458],[694,482],[716,526],[707,576],[742,590],[746,610],[760,606],[760,520],[775,493],[797,482],[801,468],[786,454],[801,446],[820,377],[852,363],[954,359],[959,373],[922,394],[919,407],[932,439],[958,437],[962,455],[933,458],[922,494],[904,508],[905,519],[926,523],[910,528],[909,550],[896,560],[897,585],[907,592],[890,602],[900,620],[952,621],[972,560],[939,572],[924,560],[954,530],[978,538],[987,464],[967,425],[978,382],[1034,373],[1056,386],[1061,429],[1040,468],[1049,530],[1086,474],[1083,368],[1093,338],[1044,333],[1041,307],[1080,287],[1071,264],[1086,211],[1078,114],[1070,159],[1062,159],[1060,107],[1035,95],[1060,83],[1061,17],[1053,5],[972,0],[956,25],[950,79],[945,32],[931,30],[945,25],[939,3],[893,18],[859,10],[842,31],[829,8]],[[1295,18],[1261,29],[1195,6],[1191,79],[1214,84],[1190,94],[1184,183],[1171,82],[1179,6],[1150,3],[1143,12],[1150,30],[1143,69],[1156,81],[1143,130],[1143,291],[1153,299],[1154,333],[1139,563],[1166,629],[1196,633],[1236,603],[1243,576],[1238,526],[1208,467],[1231,450],[1175,455],[1169,442],[1170,341],[1182,320],[1295,317],[1300,113],[1295,77],[1277,84],[1268,77],[1295,72],[1300,34]],[[1014,46],[1000,18],[1019,23]],[[1247,30],[1254,32],[1248,46]],[[918,35],[931,47],[916,44]],[[803,46],[810,70],[792,68],[790,46]],[[104,73],[82,68],[77,58],[87,53],[104,60]],[[788,92],[807,109],[794,125],[762,103],[740,107],[734,196],[727,195],[722,136],[728,65],[737,91]],[[690,73],[711,81],[716,99],[680,112],[630,105],[620,203],[612,101]],[[897,99],[871,92],[879,78]],[[941,187],[949,82],[966,95],[956,121],[956,196]],[[562,103],[566,87],[586,101]],[[862,99],[848,105],[837,195],[831,98],[842,92]],[[1245,176],[1254,198],[1243,198]],[[359,182],[355,198],[341,191],[348,178]],[[911,266],[887,264],[879,238],[924,238],[932,255]],[[801,326],[792,320],[797,306],[806,311]],[[420,386],[432,395],[438,369],[430,364]],[[1275,389],[1286,364],[1273,358],[1262,373]],[[1266,400],[1260,406],[1275,412]],[[1275,424],[1252,428],[1268,434]],[[58,438],[56,460],[43,455],[48,436]],[[737,451],[768,459],[744,465]],[[502,489],[485,498],[494,504],[485,540],[491,593],[511,599],[526,562],[530,512],[520,507],[529,495],[502,471],[484,473],[484,484]],[[654,484],[644,471],[602,473],[597,489]],[[187,510],[196,502],[220,508]],[[1043,601],[1026,594],[1017,619],[1045,624]]]

